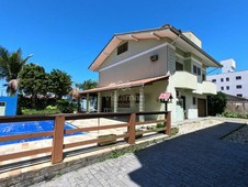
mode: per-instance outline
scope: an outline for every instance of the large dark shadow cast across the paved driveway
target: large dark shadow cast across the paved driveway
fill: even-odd
[[[153,145],[135,155],[139,186],[248,186],[248,145],[219,138],[241,123],[219,125]]]

